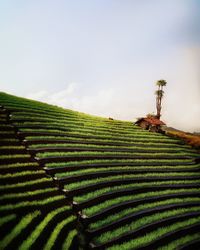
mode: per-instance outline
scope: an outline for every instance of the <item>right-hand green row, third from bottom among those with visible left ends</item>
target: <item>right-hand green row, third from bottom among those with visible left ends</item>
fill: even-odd
[[[200,189],[199,188],[189,188],[189,189],[167,189],[164,191],[156,191],[156,192],[145,192],[145,193],[140,193],[140,194],[134,194],[134,195],[126,195],[126,196],[120,196],[114,199],[108,199],[104,202],[101,202],[100,204],[97,204],[95,206],[91,206],[88,208],[85,208],[83,212],[87,216],[94,215],[106,208],[109,208],[113,205],[120,204],[122,202],[127,202],[127,201],[133,201],[137,199],[143,199],[143,198],[148,198],[148,197],[157,197],[159,195],[170,195],[170,194],[179,194],[181,192],[184,192],[186,195],[187,193],[193,192],[196,194],[199,194]]]

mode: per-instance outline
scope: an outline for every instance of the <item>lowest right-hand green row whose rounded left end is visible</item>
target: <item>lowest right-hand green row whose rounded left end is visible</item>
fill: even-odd
[[[155,213],[150,216],[144,216],[141,219],[135,220],[130,224],[126,224],[123,227],[119,227],[115,230],[108,231],[106,233],[101,234],[100,236],[95,238],[95,241],[98,243],[104,243],[109,241],[110,239],[122,236],[125,233],[137,230],[138,228],[151,224],[156,221],[160,221],[162,219],[166,219],[175,215],[181,215],[188,212],[197,212],[200,211],[200,207],[190,207],[190,208],[180,208],[180,209],[173,209],[164,212]]]

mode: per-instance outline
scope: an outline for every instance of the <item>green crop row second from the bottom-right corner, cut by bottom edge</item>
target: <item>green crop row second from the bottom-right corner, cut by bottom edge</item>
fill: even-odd
[[[128,242],[125,242],[120,245],[114,245],[112,247],[108,247],[108,250],[129,250],[129,249],[138,249],[139,247],[144,246],[145,244],[148,244],[156,239],[158,239],[161,236],[166,235],[169,232],[178,230],[178,229],[183,229],[184,227],[193,225],[195,223],[198,223],[200,220],[200,216],[196,218],[191,218],[187,219],[181,222],[174,223],[170,226],[166,227],[160,227],[157,230],[152,231],[151,233],[145,234],[141,237],[137,237],[135,239],[132,239]],[[171,250],[171,249],[170,249]]]

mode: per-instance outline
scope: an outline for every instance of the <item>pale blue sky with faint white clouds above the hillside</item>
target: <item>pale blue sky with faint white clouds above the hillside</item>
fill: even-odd
[[[0,91],[200,131],[199,0],[0,0]]]

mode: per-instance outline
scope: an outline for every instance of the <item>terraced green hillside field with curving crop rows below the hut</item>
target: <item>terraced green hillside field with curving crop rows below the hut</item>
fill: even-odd
[[[182,141],[0,93],[0,249],[198,249]]]

